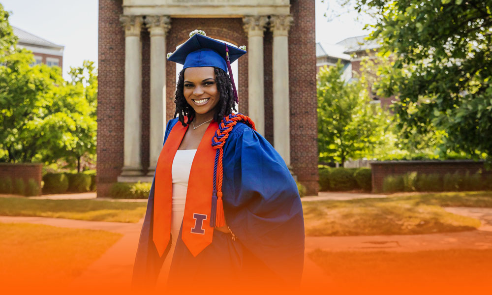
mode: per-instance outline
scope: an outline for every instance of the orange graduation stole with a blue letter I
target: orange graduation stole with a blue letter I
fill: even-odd
[[[155,169],[153,240],[159,256],[164,253],[171,235],[173,196],[171,169],[174,156],[187,128],[188,126],[184,127],[181,122],[174,125],[162,147]],[[214,234],[214,228],[210,227],[209,221],[215,160],[212,137],[217,128],[218,124],[213,120],[200,141],[189,174],[182,238],[193,256],[198,255],[212,243]]]

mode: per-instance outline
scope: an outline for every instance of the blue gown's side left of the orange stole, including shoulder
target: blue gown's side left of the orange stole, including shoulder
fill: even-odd
[[[177,119],[171,119],[167,122],[166,133],[164,135],[164,143],[166,142],[169,132],[173,126],[177,123]],[[164,145],[164,143],[162,145]],[[155,174],[152,180],[151,191],[149,193],[149,200],[147,202],[147,210],[145,212],[144,223],[142,225],[142,231],[140,232],[140,239],[138,241],[137,253],[135,256],[135,263],[133,264],[132,273],[132,287],[133,288],[152,288],[157,281],[159,271],[164,263],[164,260],[171,248],[171,239],[169,239],[169,245],[162,257],[159,257],[157,248],[153,242],[152,228],[153,228],[153,214],[154,214],[154,184]]]

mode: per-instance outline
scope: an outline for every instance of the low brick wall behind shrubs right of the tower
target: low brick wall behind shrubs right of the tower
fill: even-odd
[[[419,174],[462,173],[468,171],[474,174],[482,170],[483,175],[492,175],[492,171],[486,171],[483,161],[472,160],[447,160],[447,161],[382,161],[370,162],[372,170],[372,192],[380,192],[383,189],[384,178],[389,175],[403,175],[416,171]]]

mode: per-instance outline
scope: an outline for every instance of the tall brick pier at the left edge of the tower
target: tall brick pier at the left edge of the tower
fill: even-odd
[[[123,166],[124,32],[122,0],[99,0],[97,196],[107,195]]]

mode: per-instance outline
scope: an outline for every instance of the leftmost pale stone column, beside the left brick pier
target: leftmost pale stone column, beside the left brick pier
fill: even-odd
[[[142,16],[123,15],[124,59],[124,150],[122,176],[142,175]]]

